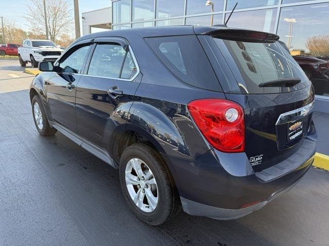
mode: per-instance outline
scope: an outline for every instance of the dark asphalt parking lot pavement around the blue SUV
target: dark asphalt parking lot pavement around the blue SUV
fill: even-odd
[[[0,245],[328,245],[329,173],[315,168],[241,219],[181,212],[144,224],[126,206],[117,170],[61,133],[39,136],[32,79],[18,61],[0,60]]]

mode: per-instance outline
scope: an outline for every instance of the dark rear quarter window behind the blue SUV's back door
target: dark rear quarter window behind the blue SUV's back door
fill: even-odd
[[[145,38],[163,64],[180,80],[198,88],[222,91],[195,35]]]

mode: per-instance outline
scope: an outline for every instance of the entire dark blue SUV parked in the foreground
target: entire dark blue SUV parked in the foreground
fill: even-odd
[[[225,26],[88,34],[39,64],[36,129],[118,168],[127,204],[146,223],[181,208],[242,217],[314,161],[314,90],[278,39]]]

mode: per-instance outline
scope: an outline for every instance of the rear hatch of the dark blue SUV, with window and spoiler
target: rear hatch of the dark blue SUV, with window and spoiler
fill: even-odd
[[[245,152],[254,171],[296,153],[311,124],[314,90],[279,37],[237,29],[204,34],[199,40],[226,98],[244,108]]]

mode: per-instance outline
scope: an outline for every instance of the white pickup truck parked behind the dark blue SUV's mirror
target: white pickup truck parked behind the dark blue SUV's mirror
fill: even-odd
[[[23,47],[18,49],[19,60],[22,67],[31,63],[33,68],[38,67],[41,61],[55,61],[62,54],[63,50],[49,40],[25,39]]]

